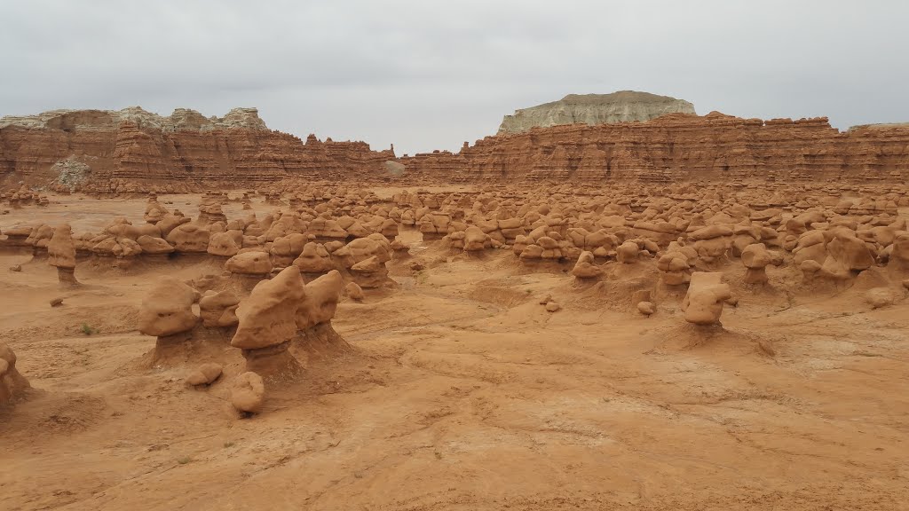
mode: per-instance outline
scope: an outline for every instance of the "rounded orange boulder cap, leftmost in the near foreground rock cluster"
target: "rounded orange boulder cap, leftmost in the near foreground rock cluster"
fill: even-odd
[[[139,307],[139,332],[146,336],[173,336],[192,330],[199,318],[193,304],[199,292],[165,276],[152,288]]]

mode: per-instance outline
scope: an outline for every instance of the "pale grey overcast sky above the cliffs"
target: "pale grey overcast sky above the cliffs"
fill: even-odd
[[[0,0],[0,115],[257,106],[401,155],[631,89],[844,129],[909,121],[907,20],[904,0]]]

